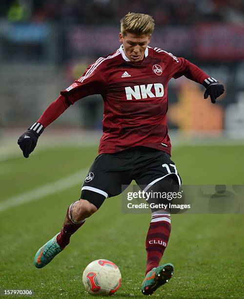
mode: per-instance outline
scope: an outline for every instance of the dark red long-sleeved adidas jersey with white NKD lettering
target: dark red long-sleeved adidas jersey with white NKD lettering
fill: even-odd
[[[91,64],[52,103],[38,120],[44,127],[83,97],[101,94],[104,102],[99,154],[135,146],[160,149],[170,154],[167,128],[169,80],[185,76],[203,84],[209,76],[184,58],[160,48],[147,47],[144,59],[132,63],[122,46]]]

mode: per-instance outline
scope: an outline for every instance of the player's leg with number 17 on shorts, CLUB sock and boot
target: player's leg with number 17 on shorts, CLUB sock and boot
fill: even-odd
[[[137,184],[153,195],[163,192],[177,192],[181,178],[170,156],[162,151],[143,149],[138,165],[142,170],[136,178]],[[140,169],[140,167],[138,168]],[[168,204],[168,201],[150,198],[148,203]],[[171,217],[168,208],[152,209],[152,218],[146,236],[146,271],[142,282],[142,293],[152,294],[159,286],[167,282],[173,274],[173,265],[159,266],[171,232]]]

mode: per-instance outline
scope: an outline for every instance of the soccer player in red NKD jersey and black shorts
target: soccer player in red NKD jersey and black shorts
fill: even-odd
[[[68,207],[61,231],[38,250],[37,268],[44,267],[59,254],[69,244],[71,235],[99,210],[103,201],[120,194],[122,186],[129,185],[133,179],[144,191],[165,192],[181,185],[170,158],[166,116],[168,82],[185,76],[203,85],[204,99],[210,96],[212,103],[224,93],[224,86],[186,59],[149,47],[153,30],[154,20],[149,15],[124,16],[120,48],[100,57],[78,80],[62,90],[18,140],[24,157],[28,158],[44,128],[70,105],[88,95],[102,95],[103,134],[99,155],[84,179],[80,199]],[[173,275],[172,264],[159,265],[170,231],[170,211],[153,210],[145,243],[144,295],[151,295]]]

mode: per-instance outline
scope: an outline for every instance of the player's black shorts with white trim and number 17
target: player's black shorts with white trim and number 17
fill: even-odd
[[[174,174],[181,178],[170,155],[158,149],[134,147],[96,157],[81,188],[81,198],[100,208],[107,197],[116,196],[135,180],[146,191],[158,181]]]

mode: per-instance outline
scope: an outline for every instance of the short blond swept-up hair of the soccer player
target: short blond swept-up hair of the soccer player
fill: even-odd
[[[154,30],[154,26],[154,20],[149,15],[129,12],[121,19],[121,33],[123,36],[127,32],[150,35]]]

